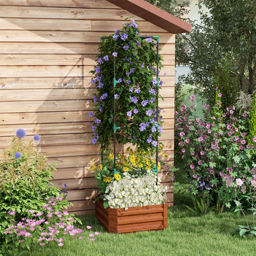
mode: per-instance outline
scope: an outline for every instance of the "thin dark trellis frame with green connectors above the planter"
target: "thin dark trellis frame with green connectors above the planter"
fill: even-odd
[[[156,93],[156,98],[157,98],[157,124],[155,125],[156,130],[158,131],[158,87],[159,87],[159,67],[158,67],[158,62],[159,62],[159,36],[158,35],[153,35],[153,36],[138,36],[139,38],[155,38],[157,40],[157,93]],[[101,37],[100,42],[102,44],[102,41],[104,38],[111,38],[111,37]],[[116,44],[114,42],[114,52],[115,52]],[[114,87],[114,95],[115,95],[115,88],[116,84],[119,84],[120,81],[116,80],[116,68],[115,68],[115,62],[116,62],[116,57],[114,57],[114,78],[113,78],[113,87]],[[116,126],[116,99],[114,97],[114,114],[113,114],[113,119],[114,119],[114,124],[113,124],[113,132],[114,132],[114,170],[113,173],[124,173],[124,172],[117,172],[116,171],[116,130],[122,129],[123,127],[117,127]],[[103,145],[103,144],[102,144]],[[103,152],[101,154],[101,163],[103,164]],[[156,172],[158,174],[158,134],[157,134],[157,149],[156,149],[156,169],[152,170],[153,172]],[[137,171],[131,171],[132,172],[146,172],[146,170],[137,170]]]

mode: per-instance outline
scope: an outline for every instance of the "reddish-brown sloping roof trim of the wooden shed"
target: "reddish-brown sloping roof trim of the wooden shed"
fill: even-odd
[[[107,0],[172,33],[190,32],[192,25],[144,0]]]

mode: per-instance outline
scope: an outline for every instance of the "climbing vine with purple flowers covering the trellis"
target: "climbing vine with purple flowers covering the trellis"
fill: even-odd
[[[94,77],[95,111],[89,116],[92,124],[93,144],[108,149],[113,140],[114,99],[116,102],[116,131],[118,143],[132,143],[139,148],[155,149],[157,135],[162,132],[162,116],[157,113],[157,41],[140,38],[138,24],[131,19],[121,30],[102,38],[97,65],[90,71]],[[115,47],[115,48],[114,48]],[[115,60],[114,60],[115,57]],[[159,70],[163,58],[159,56]],[[116,80],[113,87],[114,69]],[[159,81],[161,86],[163,81]],[[114,90],[115,89],[115,90]],[[163,98],[162,98],[163,99]],[[157,129],[157,115],[159,129]]]

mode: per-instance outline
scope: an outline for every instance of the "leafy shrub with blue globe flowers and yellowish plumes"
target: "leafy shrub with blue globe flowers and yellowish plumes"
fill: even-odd
[[[62,211],[63,207],[72,205],[65,200],[61,189],[52,186],[50,180],[54,165],[50,166],[47,157],[38,152],[39,135],[35,135],[37,150],[33,149],[33,142],[24,144],[22,138],[26,131],[18,129],[16,136],[11,137],[9,149],[4,149],[0,157],[0,238],[3,230],[10,224],[10,215],[15,212],[15,218],[20,221],[28,216],[28,210],[41,212],[42,206],[51,198],[61,198],[55,211]],[[0,239],[2,241],[2,239]]]

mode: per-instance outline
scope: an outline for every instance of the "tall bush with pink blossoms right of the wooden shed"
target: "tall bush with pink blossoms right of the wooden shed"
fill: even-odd
[[[249,112],[234,116],[235,106],[221,111],[222,95],[218,88],[216,94],[217,101],[212,110],[209,105],[204,105],[203,120],[194,117],[196,108],[193,104],[184,105],[180,109],[182,118],[178,118],[175,124],[185,167],[182,177],[191,184],[187,195],[194,202],[195,209],[204,207],[203,212],[210,204],[214,204],[219,212],[225,205],[230,207],[230,201],[235,198],[230,183],[253,168],[256,162],[255,146],[247,140]],[[193,103],[194,96],[190,98]],[[252,140],[256,142],[256,137]],[[175,185],[183,188],[179,183]]]

